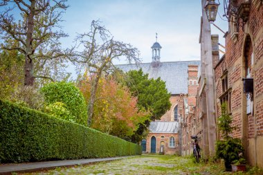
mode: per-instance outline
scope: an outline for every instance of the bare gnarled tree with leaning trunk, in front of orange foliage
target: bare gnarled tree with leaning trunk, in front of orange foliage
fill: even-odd
[[[93,106],[96,101],[98,82],[103,73],[116,70],[114,59],[127,59],[131,62],[140,62],[139,51],[130,44],[115,41],[105,26],[100,21],[92,21],[89,33],[78,35],[77,45],[70,50],[71,62],[85,67],[91,73],[91,96],[88,104],[88,125],[91,125]],[[83,49],[77,51],[77,49]],[[72,52],[72,50],[75,50]]]

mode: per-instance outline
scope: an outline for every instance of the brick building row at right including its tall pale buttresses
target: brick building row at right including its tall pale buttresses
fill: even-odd
[[[218,36],[211,35],[215,118],[217,122],[221,116],[221,104],[226,102],[228,113],[233,118],[233,126],[236,127],[231,135],[242,139],[248,163],[262,168],[263,149],[260,145],[263,145],[263,2],[232,0],[228,3],[228,10],[233,8],[237,9],[237,12],[228,11],[229,28],[224,36],[226,53],[221,59],[218,54]],[[203,43],[200,43],[202,52]],[[203,61],[206,62],[206,59],[207,55],[201,57],[196,107],[192,111],[192,117],[188,115],[189,120],[181,125],[183,154],[191,153],[189,135],[198,131],[202,131],[199,144],[203,155],[208,155],[210,151],[206,136],[206,72],[203,71],[203,67],[206,66]]]

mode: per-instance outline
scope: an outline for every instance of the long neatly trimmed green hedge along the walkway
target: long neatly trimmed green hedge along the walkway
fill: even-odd
[[[0,163],[141,154],[100,131],[0,100]]]

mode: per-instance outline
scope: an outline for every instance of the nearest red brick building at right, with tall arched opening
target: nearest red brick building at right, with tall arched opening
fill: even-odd
[[[231,4],[238,16],[229,16],[226,54],[215,66],[217,116],[226,102],[237,127],[232,136],[242,138],[248,163],[263,167],[263,3]]]

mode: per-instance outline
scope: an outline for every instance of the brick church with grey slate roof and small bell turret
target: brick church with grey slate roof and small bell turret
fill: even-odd
[[[179,154],[181,148],[180,126],[181,118],[188,113],[192,100],[188,104],[189,82],[197,87],[197,77],[189,77],[188,69],[198,71],[199,61],[161,62],[161,45],[156,42],[152,45],[152,62],[141,64],[120,64],[118,68],[127,72],[139,70],[147,73],[149,78],[157,79],[161,77],[166,84],[167,90],[171,93],[170,102],[172,104],[161,120],[150,123],[149,134],[141,145],[144,153],[156,154]],[[194,74],[195,75],[195,74]],[[197,74],[196,74],[197,75]],[[193,80],[192,80],[193,79]],[[190,96],[192,98],[192,96]]]

